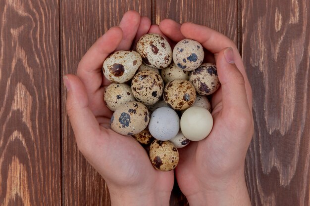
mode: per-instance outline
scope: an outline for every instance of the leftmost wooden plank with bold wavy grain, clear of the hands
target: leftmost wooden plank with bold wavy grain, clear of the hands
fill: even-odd
[[[61,205],[58,0],[0,5],[0,205]]]

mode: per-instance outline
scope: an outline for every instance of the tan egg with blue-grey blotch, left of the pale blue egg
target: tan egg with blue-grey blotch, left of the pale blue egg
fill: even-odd
[[[140,102],[128,102],[117,108],[110,121],[111,129],[122,135],[143,131],[150,121],[148,108]]]

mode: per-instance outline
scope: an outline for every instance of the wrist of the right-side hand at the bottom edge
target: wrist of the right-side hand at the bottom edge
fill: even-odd
[[[251,206],[244,174],[201,186],[186,198],[190,206]]]

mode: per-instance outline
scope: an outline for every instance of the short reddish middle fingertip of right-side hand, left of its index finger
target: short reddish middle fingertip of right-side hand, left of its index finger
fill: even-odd
[[[160,31],[172,41],[181,41],[186,39],[181,33],[181,24],[171,20],[164,19],[159,23]]]

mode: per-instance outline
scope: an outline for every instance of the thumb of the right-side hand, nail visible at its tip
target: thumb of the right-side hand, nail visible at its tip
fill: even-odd
[[[249,108],[245,78],[234,63],[236,58],[238,56],[234,55],[233,49],[228,47],[219,52],[216,60],[223,109]]]

